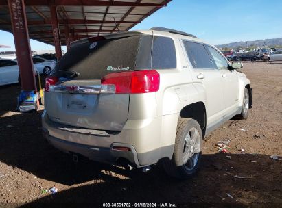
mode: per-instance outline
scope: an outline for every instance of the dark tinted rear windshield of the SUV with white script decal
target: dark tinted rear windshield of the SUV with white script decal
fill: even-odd
[[[135,70],[139,36],[128,36],[75,45],[58,62],[53,75],[73,79],[101,79],[108,73]],[[149,52],[150,53],[150,52]]]

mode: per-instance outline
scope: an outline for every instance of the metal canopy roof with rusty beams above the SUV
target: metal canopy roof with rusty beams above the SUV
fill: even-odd
[[[8,0],[0,0],[0,29],[12,32]],[[172,0],[25,0],[30,38],[53,44],[51,5],[57,6],[60,39],[66,44],[64,27],[70,37],[80,39],[128,31]]]

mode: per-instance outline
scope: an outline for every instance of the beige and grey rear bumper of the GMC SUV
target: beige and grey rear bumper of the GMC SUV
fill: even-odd
[[[161,158],[171,158],[174,151],[174,145],[161,146],[159,142],[156,143],[158,145],[152,143],[159,138],[154,134],[157,126],[155,122],[152,122],[150,128],[126,129],[115,134],[66,131],[49,120],[46,111],[42,114],[42,122],[43,135],[50,144],[60,151],[83,155],[93,161],[115,164],[119,159],[126,159],[133,166],[148,166]],[[151,131],[148,132],[148,129]],[[114,147],[126,147],[128,151],[115,150]]]

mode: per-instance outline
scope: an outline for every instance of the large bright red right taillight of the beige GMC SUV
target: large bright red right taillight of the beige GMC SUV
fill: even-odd
[[[102,85],[115,85],[115,93],[157,92],[160,86],[160,75],[156,70],[111,73],[102,78]]]

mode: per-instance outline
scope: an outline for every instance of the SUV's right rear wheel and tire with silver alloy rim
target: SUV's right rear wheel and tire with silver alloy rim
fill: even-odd
[[[174,154],[163,162],[165,172],[178,179],[189,179],[196,173],[202,155],[202,130],[196,120],[178,120]]]

